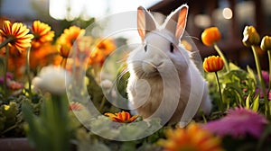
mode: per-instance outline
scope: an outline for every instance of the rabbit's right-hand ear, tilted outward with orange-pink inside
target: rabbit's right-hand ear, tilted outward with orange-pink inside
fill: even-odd
[[[165,29],[173,32],[177,40],[180,40],[186,26],[188,5],[182,4],[165,21]]]

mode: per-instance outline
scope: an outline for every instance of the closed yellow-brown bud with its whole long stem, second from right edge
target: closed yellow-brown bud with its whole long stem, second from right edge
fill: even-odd
[[[253,55],[255,58],[255,63],[257,67],[257,75],[259,77],[259,81],[262,87],[262,92],[264,95],[264,100],[265,100],[265,113],[267,116],[270,116],[270,111],[269,111],[269,105],[268,105],[268,99],[267,99],[267,94],[266,94],[266,84],[262,75],[262,69],[260,65],[259,58],[257,56],[257,45],[260,42],[260,37],[256,31],[256,29],[253,26],[246,26],[245,30],[243,31],[243,43],[247,47],[251,47],[253,51]]]

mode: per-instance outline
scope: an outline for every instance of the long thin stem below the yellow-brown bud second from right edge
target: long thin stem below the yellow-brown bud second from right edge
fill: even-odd
[[[253,55],[255,58],[255,63],[256,63],[256,67],[257,67],[257,75],[259,77],[259,81],[260,81],[260,84],[262,87],[262,92],[264,94],[265,108],[266,108],[265,113],[269,117],[270,112],[269,112],[268,100],[267,100],[267,95],[266,95],[266,84],[265,84],[265,81],[264,81],[264,78],[262,75],[262,69],[260,66],[259,58],[257,57],[257,46],[252,45],[251,48],[252,48]]]

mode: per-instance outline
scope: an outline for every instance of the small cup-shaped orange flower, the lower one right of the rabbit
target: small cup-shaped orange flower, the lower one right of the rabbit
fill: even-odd
[[[209,58],[205,58],[203,61],[203,68],[206,72],[217,72],[220,71],[223,67],[223,59],[219,56],[211,56]]]

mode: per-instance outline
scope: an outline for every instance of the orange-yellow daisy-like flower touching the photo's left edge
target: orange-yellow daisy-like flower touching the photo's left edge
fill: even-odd
[[[31,47],[31,40],[33,39],[33,34],[28,34],[29,29],[21,22],[11,23],[5,21],[3,24],[3,29],[0,30],[5,39],[11,39],[8,43],[9,47],[15,47],[20,52]]]

